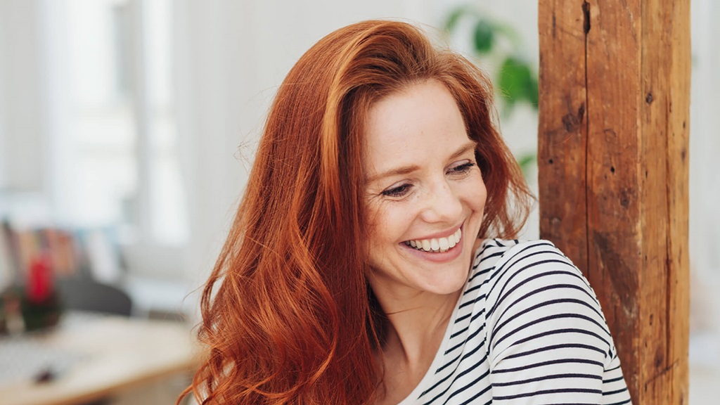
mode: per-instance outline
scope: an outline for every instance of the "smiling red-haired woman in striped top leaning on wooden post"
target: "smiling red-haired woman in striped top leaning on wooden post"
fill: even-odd
[[[590,286],[519,242],[492,89],[418,29],[314,45],[276,95],[202,297],[202,404],[627,404]],[[495,239],[492,239],[495,238]]]

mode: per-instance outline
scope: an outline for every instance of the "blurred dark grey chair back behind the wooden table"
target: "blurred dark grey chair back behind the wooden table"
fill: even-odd
[[[82,277],[57,280],[63,308],[69,311],[92,311],[130,316],[132,300],[125,291]]]

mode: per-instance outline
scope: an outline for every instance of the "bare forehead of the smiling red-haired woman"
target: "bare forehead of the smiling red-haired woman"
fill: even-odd
[[[412,84],[372,104],[364,128],[368,174],[402,164],[423,164],[468,141],[454,97],[434,80]]]

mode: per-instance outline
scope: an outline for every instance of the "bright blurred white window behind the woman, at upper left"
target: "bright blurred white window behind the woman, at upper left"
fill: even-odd
[[[179,175],[171,1],[67,0],[69,109],[76,176],[71,222],[121,223],[125,240],[181,246],[187,215]],[[67,190],[67,191],[65,191]]]

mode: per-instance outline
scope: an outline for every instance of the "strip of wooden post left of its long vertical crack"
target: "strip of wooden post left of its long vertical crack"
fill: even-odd
[[[585,33],[582,9],[566,2],[546,1],[539,7],[540,229],[586,272]]]

